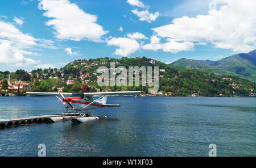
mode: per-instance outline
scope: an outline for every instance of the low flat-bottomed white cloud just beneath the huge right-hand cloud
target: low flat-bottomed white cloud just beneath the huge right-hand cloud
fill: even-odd
[[[180,43],[172,39],[166,39],[168,42],[160,43],[160,38],[155,35],[151,36],[150,40],[151,40],[151,43],[143,45],[142,46],[143,49],[154,50],[154,51],[158,51],[159,49],[162,49],[164,52],[171,52],[171,53],[194,50],[194,44],[191,42]]]

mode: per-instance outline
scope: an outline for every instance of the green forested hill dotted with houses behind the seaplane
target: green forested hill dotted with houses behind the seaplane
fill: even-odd
[[[159,66],[159,91],[172,92],[174,96],[188,96],[193,93],[199,93],[204,96],[249,96],[250,94],[253,95],[255,92],[255,82],[251,82],[247,79],[167,65],[163,62],[146,57],[105,57],[76,60],[60,69],[36,69],[29,73],[24,70],[17,70],[14,73],[6,71],[0,72],[0,81],[8,78],[10,74],[12,82],[20,79],[21,81],[34,83],[35,86],[32,88],[32,91],[57,91],[58,88],[64,87],[64,92],[79,92],[81,91],[81,86],[84,84],[94,86],[93,91],[96,91],[96,89],[100,89],[101,91],[148,91],[148,86],[99,87],[97,85],[97,76],[100,74],[97,73],[97,69],[100,66],[110,68],[110,62],[115,62],[115,68],[117,68],[117,66],[125,66],[127,69],[129,66]]]

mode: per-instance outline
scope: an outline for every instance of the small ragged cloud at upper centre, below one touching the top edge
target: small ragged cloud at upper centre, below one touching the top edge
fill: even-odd
[[[159,16],[159,12],[150,13],[148,10],[144,11],[138,11],[138,9],[131,10],[135,15],[139,17],[139,20],[141,21],[147,21],[148,23],[151,23],[152,21],[155,21],[156,18]]]

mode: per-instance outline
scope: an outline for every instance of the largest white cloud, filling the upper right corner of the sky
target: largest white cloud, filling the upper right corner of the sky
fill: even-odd
[[[196,18],[183,16],[153,28],[160,37],[188,43],[210,43],[214,48],[249,52],[256,46],[256,1],[214,0],[219,9]],[[201,44],[203,44],[201,43]]]

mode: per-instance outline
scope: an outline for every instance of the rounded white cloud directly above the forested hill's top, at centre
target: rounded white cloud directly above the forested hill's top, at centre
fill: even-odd
[[[115,54],[119,56],[129,56],[139,49],[139,43],[136,40],[126,37],[110,37],[110,40],[106,42],[108,45],[119,47],[118,49],[115,49]]]

